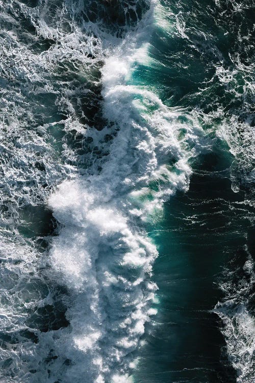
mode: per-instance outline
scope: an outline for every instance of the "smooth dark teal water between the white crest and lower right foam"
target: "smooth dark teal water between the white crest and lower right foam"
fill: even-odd
[[[224,298],[219,280],[228,262],[235,254],[246,260],[254,211],[239,205],[244,193],[234,193],[228,178],[232,158],[218,145],[197,159],[189,191],[171,198],[150,233],[160,253],[154,266],[160,303],[136,383],[236,381],[222,322],[212,310]]]

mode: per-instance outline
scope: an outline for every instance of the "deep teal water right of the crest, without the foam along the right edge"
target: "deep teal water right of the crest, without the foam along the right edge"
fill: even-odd
[[[251,40],[242,40],[253,28],[252,5],[245,4],[239,12],[230,2],[162,2],[170,32],[158,29],[152,35],[153,69],[140,66],[135,73],[135,81],[152,85],[167,105],[195,111],[214,141],[211,153],[191,162],[189,191],[165,204],[163,221],[150,231],[160,254],[154,266],[160,303],[136,382],[234,382],[240,374],[231,365],[223,323],[213,309],[225,299],[221,283],[244,278],[247,254],[254,260],[254,209],[242,204],[252,201],[253,177],[249,184],[246,167],[246,185],[233,192],[244,158],[241,151],[238,159],[228,152],[215,128],[233,115],[254,123],[252,92],[244,85],[251,78],[233,59],[238,55],[246,65],[252,63]],[[185,37],[174,33],[176,15]],[[217,66],[231,74],[225,83],[216,75]],[[253,313],[252,285],[247,293]]]

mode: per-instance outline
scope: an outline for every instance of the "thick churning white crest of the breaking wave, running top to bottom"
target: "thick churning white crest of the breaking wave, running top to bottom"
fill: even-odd
[[[148,60],[155,6],[102,69],[104,116],[115,137],[107,160],[98,160],[101,171],[63,182],[49,200],[63,225],[50,260],[72,297],[70,331],[57,343],[62,357],[73,361],[64,381],[86,376],[103,383],[129,375],[144,324],[156,313],[150,274],[157,250],[142,221],[153,219],[177,189],[187,189],[195,149],[186,146],[198,146],[201,135],[156,94],[131,84],[132,67]]]

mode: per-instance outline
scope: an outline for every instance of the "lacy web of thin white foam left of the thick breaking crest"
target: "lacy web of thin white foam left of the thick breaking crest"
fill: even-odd
[[[42,3],[30,8],[18,1],[0,2],[0,380],[3,382],[53,382],[61,375],[59,371],[68,368],[69,362],[61,357],[64,342],[60,342],[59,348],[56,346],[59,358],[50,375],[46,367],[52,364],[52,356],[57,357],[53,351],[55,339],[65,339],[65,330],[52,330],[49,326],[49,331],[44,332],[47,318],[54,327],[58,316],[58,287],[56,283],[52,286],[43,272],[45,246],[40,245],[43,238],[37,232],[49,189],[77,172],[73,165],[77,162],[77,153],[65,134],[74,131],[87,135],[87,126],[79,122],[81,102],[71,101],[75,96],[78,99],[93,92],[73,90],[73,76],[68,79],[71,73],[68,64],[76,68],[82,66],[84,79],[95,83],[89,66],[99,60],[101,53],[99,39],[81,32],[75,22],[68,19],[65,7],[59,8],[57,13],[61,17],[55,17],[56,25],[50,21],[54,15],[49,10],[52,4],[46,2],[44,7]],[[34,27],[36,33],[24,31],[20,24],[23,21],[32,31]],[[44,49],[40,36],[56,39],[58,43],[51,41],[52,45]],[[65,66],[67,77],[59,81],[59,72],[63,73]],[[75,110],[74,106],[78,108]],[[26,213],[27,207],[35,207],[32,209],[35,222],[30,222],[33,214]],[[48,308],[54,310],[51,319]],[[59,320],[66,325],[63,317],[64,312]]]

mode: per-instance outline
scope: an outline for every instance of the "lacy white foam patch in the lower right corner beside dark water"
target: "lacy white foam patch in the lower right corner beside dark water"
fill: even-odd
[[[222,283],[226,294],[224,302],[218,302],[215,313],[223,321],[222,332],[226,340],[227,354],[237,371],[238,383],[254,381],[255,319],[248,309],[249,292],[254,285],[254,262],[251,256],[243,266],[245,277],[233,286],[232,278]],[[235,296],[231,292],[235,292]]]

